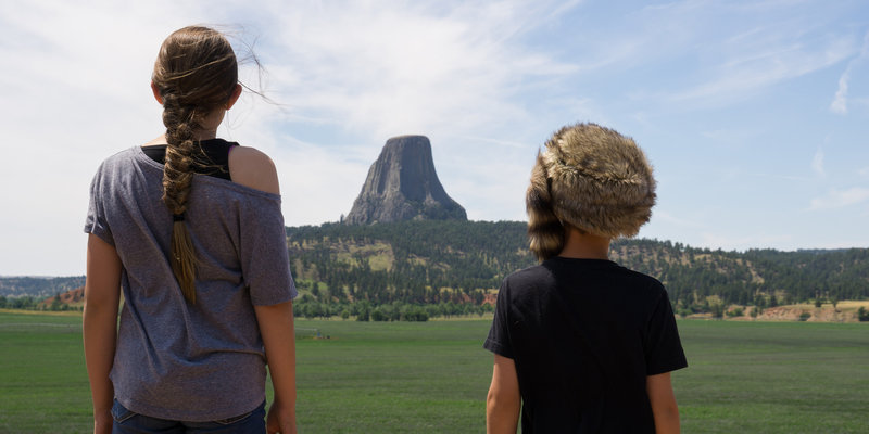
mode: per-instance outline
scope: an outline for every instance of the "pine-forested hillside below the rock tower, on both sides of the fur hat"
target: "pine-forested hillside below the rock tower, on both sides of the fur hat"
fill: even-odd
[[[479,304],[536,264],[524,222],[403,221],[287,229],[299,285],[322,303]],[[619,240],[617,263],[660,279],[679,308],[869,297],[869,250],[745,253]],[[308,298],[310,301],[310,298]]]

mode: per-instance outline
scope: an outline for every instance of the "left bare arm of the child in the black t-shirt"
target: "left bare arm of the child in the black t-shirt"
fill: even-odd
[[[492,385],[486,398],[486,432],[516,434],[521,409],[519,379],[513,359],[495,355]]]

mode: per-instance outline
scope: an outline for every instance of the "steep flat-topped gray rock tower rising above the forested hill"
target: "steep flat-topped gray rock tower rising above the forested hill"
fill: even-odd
[[[428,138],[393,137],[368,169],[345,221],[368,225],[414,219],[466,220],[467,214],[438,180]]]

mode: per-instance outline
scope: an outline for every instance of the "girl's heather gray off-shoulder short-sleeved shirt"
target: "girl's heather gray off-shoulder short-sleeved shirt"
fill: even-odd
[[[253,307],[297,295],[280,196],[193,177],[186,224],[198,275],[190,304],[167,259],[173,219],[161,200],[162,179],[163,166],[137,146],[105,159],[90,188],[85,231],[113,245],[123,264],[115,398],[162,419],[243,414],[265,399]]]

